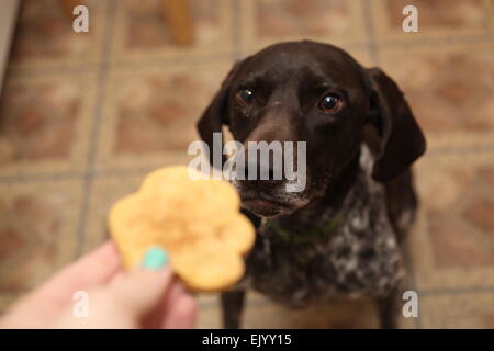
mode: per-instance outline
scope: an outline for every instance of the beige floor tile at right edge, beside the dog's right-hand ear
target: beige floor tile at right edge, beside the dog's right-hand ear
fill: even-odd
[[[494,145],[493,53],[493,44],[381,49],[380,66],[404,91],[429,150]]]

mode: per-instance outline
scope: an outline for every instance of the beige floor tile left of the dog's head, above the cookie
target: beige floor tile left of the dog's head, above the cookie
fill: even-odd
[[[98,147],[100,170],[187,163],[195,124],[231,68],[229,59],[112,72]]]

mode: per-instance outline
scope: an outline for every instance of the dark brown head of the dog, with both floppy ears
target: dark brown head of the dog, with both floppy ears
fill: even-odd
[[[372,176],[380,182],[397,177],[425,150],[423,133],[391,78],[335,46],[307,41],[276,44],[237,63],[198,124],[210,147],[222,125],[247,150],[249,141],[293,141],[295,170],[305,157],[302,191],[289,192],[284,177],[234,181],[243,206],[268,217],[325,194],[364,141],[375,155]],[[306,141],[305,155],[296,148],[300,141]],[[245,168],[252,160],[247,156]],[[261,162],[259,172],[263,167],[273,174],[274,166]]]

